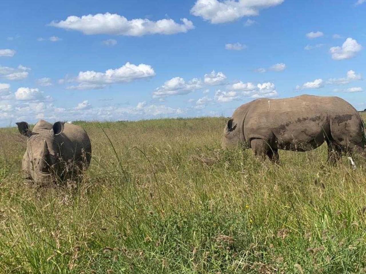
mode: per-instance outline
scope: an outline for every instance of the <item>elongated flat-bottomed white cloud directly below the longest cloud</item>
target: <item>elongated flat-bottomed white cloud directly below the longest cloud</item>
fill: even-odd
[[[155,75],[154,69],[150,65],[134,65],[127,62],[117,69],[108,69],[103,72],[81,71],[76,80],[81,83],[93,84],[113,84],[127,83],[133,80],[149,78]]]

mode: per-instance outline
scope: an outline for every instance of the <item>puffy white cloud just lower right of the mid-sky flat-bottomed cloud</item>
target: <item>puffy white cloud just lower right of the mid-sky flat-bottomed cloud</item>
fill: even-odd
[[[174,77],[164,83],[161,87],[158,87],[153,92],[153,98],[166,97],[171,95],[188,94],[193,90],[199,90],[202,88],[202,82],[198,78],[186,81],[181,77]]]

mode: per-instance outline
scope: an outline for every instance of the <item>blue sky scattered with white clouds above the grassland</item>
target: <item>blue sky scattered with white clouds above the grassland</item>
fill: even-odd
[[[0,2],[0,126],[230,116],[255,98],[366,108],[366,1]]]

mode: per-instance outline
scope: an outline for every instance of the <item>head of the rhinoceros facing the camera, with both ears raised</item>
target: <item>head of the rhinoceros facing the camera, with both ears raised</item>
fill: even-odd
[[[35,132],[29,129],[27,122],[18,122],[16,125],[19,132],[28,138],[23,170],[36,183],[50,180],[59,157],[55,136],[63,132],[64,123],[56,122],[52,129],[37,129]]]

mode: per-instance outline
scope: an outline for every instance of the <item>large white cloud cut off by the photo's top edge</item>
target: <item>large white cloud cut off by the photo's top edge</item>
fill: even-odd
[[[200,16],[212,24],[232,22],[244,16],[259,14],[259,10],[279,5],[284,0],[197,0],[191,14]]]

